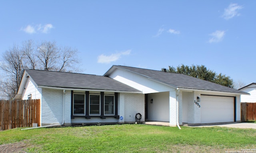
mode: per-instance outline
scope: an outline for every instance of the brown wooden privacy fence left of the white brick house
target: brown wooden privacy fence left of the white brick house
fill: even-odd
[[[0,130],[40,126],[40,99],[0,100]]]

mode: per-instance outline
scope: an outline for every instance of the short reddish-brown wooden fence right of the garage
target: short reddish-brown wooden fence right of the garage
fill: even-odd
[[[256,121],[256,103],[241,103],[241,121]]]

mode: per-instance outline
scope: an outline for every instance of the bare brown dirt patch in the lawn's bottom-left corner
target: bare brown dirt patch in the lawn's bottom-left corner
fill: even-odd
[[[0,153],[26,153],[27,143],[16,142],[0,145]]]

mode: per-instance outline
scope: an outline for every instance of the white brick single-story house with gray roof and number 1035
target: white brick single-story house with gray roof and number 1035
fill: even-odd
[[[40,126],[239,122],[248,93],[183,74],[112,66],[103,76],[24,70],[16,99],[41,99]]]

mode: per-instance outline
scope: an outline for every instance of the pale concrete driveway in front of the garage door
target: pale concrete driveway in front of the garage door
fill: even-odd
[[[228,124],[220,124],[220,125],[199,125],[199,126],[192,126],[192,127],[214,127],[214,126],[256,129],[256,123],[228,123]]]

